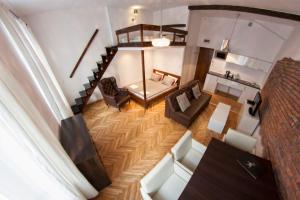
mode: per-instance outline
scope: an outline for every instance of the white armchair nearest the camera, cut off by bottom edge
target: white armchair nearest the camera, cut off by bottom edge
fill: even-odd
[[[183,192],[191,175],[176,165],[168,153],[141,180],[141,194],[144,200],[176,200]]]

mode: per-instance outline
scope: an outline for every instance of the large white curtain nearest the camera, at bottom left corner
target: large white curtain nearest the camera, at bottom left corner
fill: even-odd
[[[97,191],[0,61],[0,197],[77,200]]]

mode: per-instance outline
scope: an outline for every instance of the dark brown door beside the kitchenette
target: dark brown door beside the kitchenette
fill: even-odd
[[[200,47],[194,80],[199,80],[203,86],[209,71],[214,49]]]

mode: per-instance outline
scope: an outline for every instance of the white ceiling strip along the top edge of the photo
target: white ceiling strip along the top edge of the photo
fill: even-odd
[[[49,10],[90,7],[113,6],[128,8],[140,6],[143,9],[155,10],[160,7],[160,0],[0,0],[7,4],[17,15],[33,15]],[[180,5],[209,5],[225,4],[272,9],[283,12],[300,14],[299,0],[162,0],[163,7]]]

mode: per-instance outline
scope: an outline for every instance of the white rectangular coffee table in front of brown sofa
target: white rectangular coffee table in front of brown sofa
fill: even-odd
[[[227,118],[230,112],[230,106],[224,103],[218,103],[216,109],[214,110],[212,116],[208,122],[208,129],[217,133],[222,133]]]

